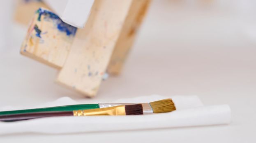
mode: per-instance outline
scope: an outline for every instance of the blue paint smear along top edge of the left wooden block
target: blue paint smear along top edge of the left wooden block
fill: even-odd
[[[57,25],[57,29],[61,32],[65,32],[67,34],[67,36],[69,35],[75,35],[76,34],[76,27],[73,27],[65,22],[63,22],[59,16],[57,16],[55,13],[51,12],[51,11],[47,11],[45,9],[41,9],[39,8],[37,10],[38,13],[38,21],[41,21],[41,16],[44,15],[46,16],[45,18],[51,18],[52,20],[55,20],[56,25]]]

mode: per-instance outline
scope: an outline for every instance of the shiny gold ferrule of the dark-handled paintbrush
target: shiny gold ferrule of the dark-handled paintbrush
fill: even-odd
[[[125,115],[125,106],[115,106],[108,108],[98,108],[98,109],[87,109],[87,110],[76,110],[73,111],[74,116],[92,116],[92,115]]]

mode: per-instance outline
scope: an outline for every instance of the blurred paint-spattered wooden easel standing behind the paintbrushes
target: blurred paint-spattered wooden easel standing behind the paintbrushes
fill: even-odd
[[[120,74],[149,4],[150,0],[95,0],[85,27],[68,37],[34,18],[21,54],[57,68],[58,83],[93,97],[106,71]],[[41,34],[48,46],[40,45],[35,25],[48,28]]]

